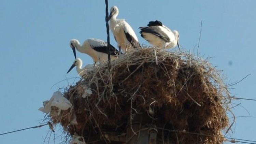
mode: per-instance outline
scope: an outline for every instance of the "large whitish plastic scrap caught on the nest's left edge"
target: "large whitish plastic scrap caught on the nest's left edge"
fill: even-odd
[[[68,110],[72,104],[68,99],[62,96],[60,91],[56,91],[53,93],[53,96],[48,101],[43,102],[44,107],[40,107],[39,111],[42,111],[43,113],[49,113],[51,112],[51,107],[56,106],[58,108],[58,115],[60,114],[61,110]]]

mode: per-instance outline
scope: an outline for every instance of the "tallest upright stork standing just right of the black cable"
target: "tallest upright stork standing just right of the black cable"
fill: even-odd
[[[117,6],[112,6],[110,9],[110,29],[114,35],[117,45],[123,49],[123,51],[131,51],[134,48],[141,47],[139,40],[131,28],[131,26],[125,21],[125,19],[117,19],[119,11]]]

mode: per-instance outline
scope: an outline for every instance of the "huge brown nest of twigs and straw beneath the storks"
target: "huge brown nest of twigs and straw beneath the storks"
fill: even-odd
[[[144,48],[112,61],[110,71],[100,64],[71,86],[63,96],[73,106],[52,116],[54,123],[86,144],[139,143],[150,131],[157,143],[225,141],[229,92],[206,60]],[[70,122],[74,117],[77,123]]]

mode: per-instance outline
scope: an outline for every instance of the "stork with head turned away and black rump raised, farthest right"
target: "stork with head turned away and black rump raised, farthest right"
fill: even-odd
[[[162,48],[173,48],[179,44],[180,34],[176,30],[170,30],[163,25],[161,21],[150,21],[148,27],[140,27],[141,37],[151,43],[153,46]]]

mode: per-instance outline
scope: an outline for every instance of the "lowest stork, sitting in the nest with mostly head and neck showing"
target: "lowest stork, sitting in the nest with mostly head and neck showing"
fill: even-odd
[[[69,73],[76,66],[77,73],[81,77],[83,77],[84,75],[86,75],[88,73],[88,71],[91,71],[94,69],[94,66],[92,64],[88,64],[84,68],[82,68],[82,65],[83,65],[83,61],[80,58],[75,59],[67,73]]]

